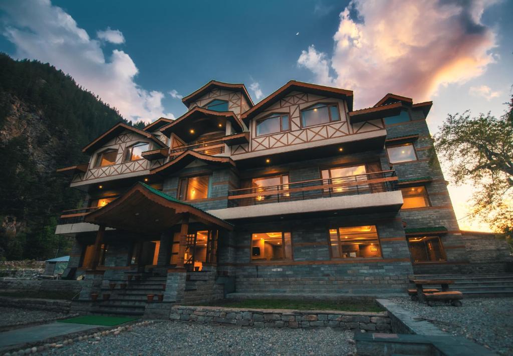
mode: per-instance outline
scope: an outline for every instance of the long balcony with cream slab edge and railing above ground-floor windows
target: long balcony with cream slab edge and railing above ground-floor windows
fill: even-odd
[[[257,218],[326,211],[398,211],[395,171],[315,179],[228,192],[228,208],[210,210],[222,219]]]

